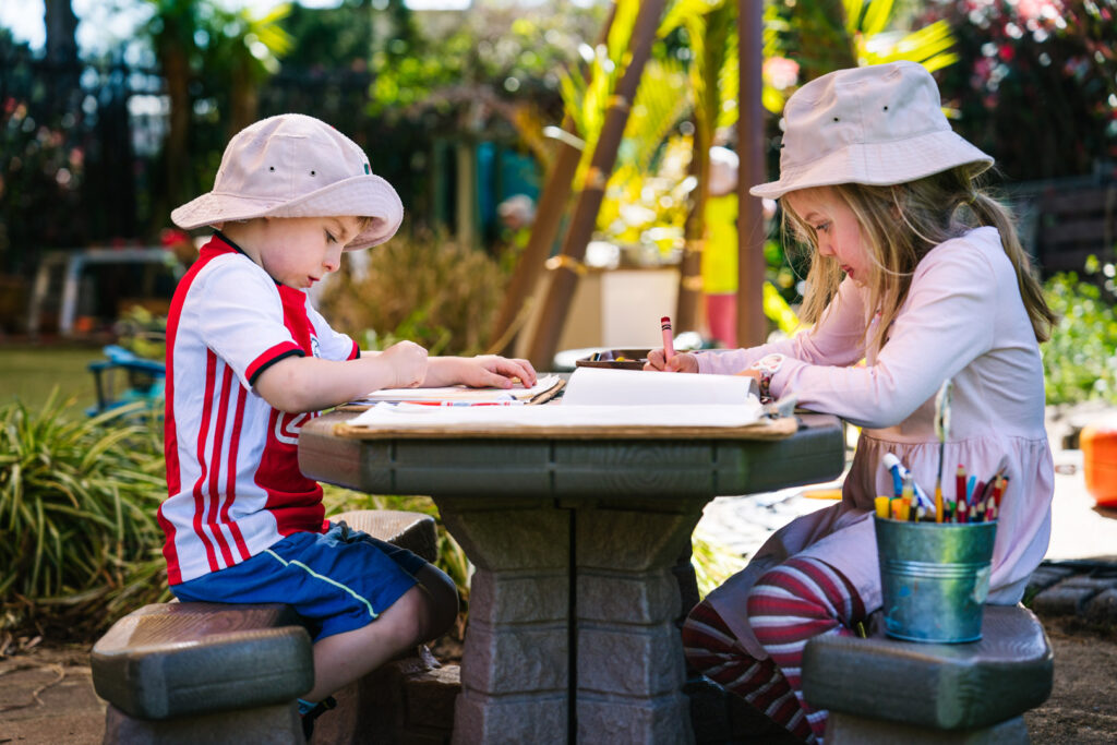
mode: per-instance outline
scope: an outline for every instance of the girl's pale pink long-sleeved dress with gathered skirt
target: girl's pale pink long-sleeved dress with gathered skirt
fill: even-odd
[[[881,605],[876,495],[892,494],[881,466],[894,452],[917,484],[934,494],[938,470],[935,394],[953,379],[951,431],[943,464],[943,494],[955,491],[961,464],[978,479],[1002,458],[1010,477],[1004,494],[989,601],[1020,600],[1047,552],[1054,469],[1043,427],[1043,366],[1011,261],[995,228],[977,228],[936,246],[918,264],[887,343],[867,348],[869,313],[863,290],[842,281],[811,333],[748,350],[698,355],[701,373],[734,373],[764,355],[784,355],[772,395],[799,397],[799,405],[837,414],[861,427],[839,504],[784,526],[748,566],[707,599],[757,659],[767,657],[745,614],[756,579],[794,554],[812,556],[844,574],[868,611]],[[876,321],[870,323],[876,324]],[[860,360],[865,365],[857,365]],[[857,365],[857,366],[855,366]]]

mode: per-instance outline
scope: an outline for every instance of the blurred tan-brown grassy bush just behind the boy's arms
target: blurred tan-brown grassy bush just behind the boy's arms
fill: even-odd
[[[365,348],[405,338],[431,354],[484,351],[506,283],[493,257],[420,231],[398,236],[367,259],[366,270],[346,265],[326,287],[322,313],[335,328],[364,338]]]

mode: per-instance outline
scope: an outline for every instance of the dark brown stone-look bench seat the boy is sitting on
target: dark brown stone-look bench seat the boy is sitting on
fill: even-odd
[[[429,515],[361,510],[330,519],[436,557]],[[295,699],[314,686],[314,659],[289,605],[144,605],[94,644],[90,667],[109,704],[106,743],[304,742]]]

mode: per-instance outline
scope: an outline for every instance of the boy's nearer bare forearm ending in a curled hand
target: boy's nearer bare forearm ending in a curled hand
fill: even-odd
[[[423,382],[427,350],[400,342],[356,360],[285,357],[264,370],[256,392],[280,411],[321,411],[381,388],[411,388]]]

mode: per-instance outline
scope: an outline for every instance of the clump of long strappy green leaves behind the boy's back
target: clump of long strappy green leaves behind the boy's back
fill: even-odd
[[[137,408],[69,405],[0,407],[0,629],[98,630],[166,596],[161,428]]]

